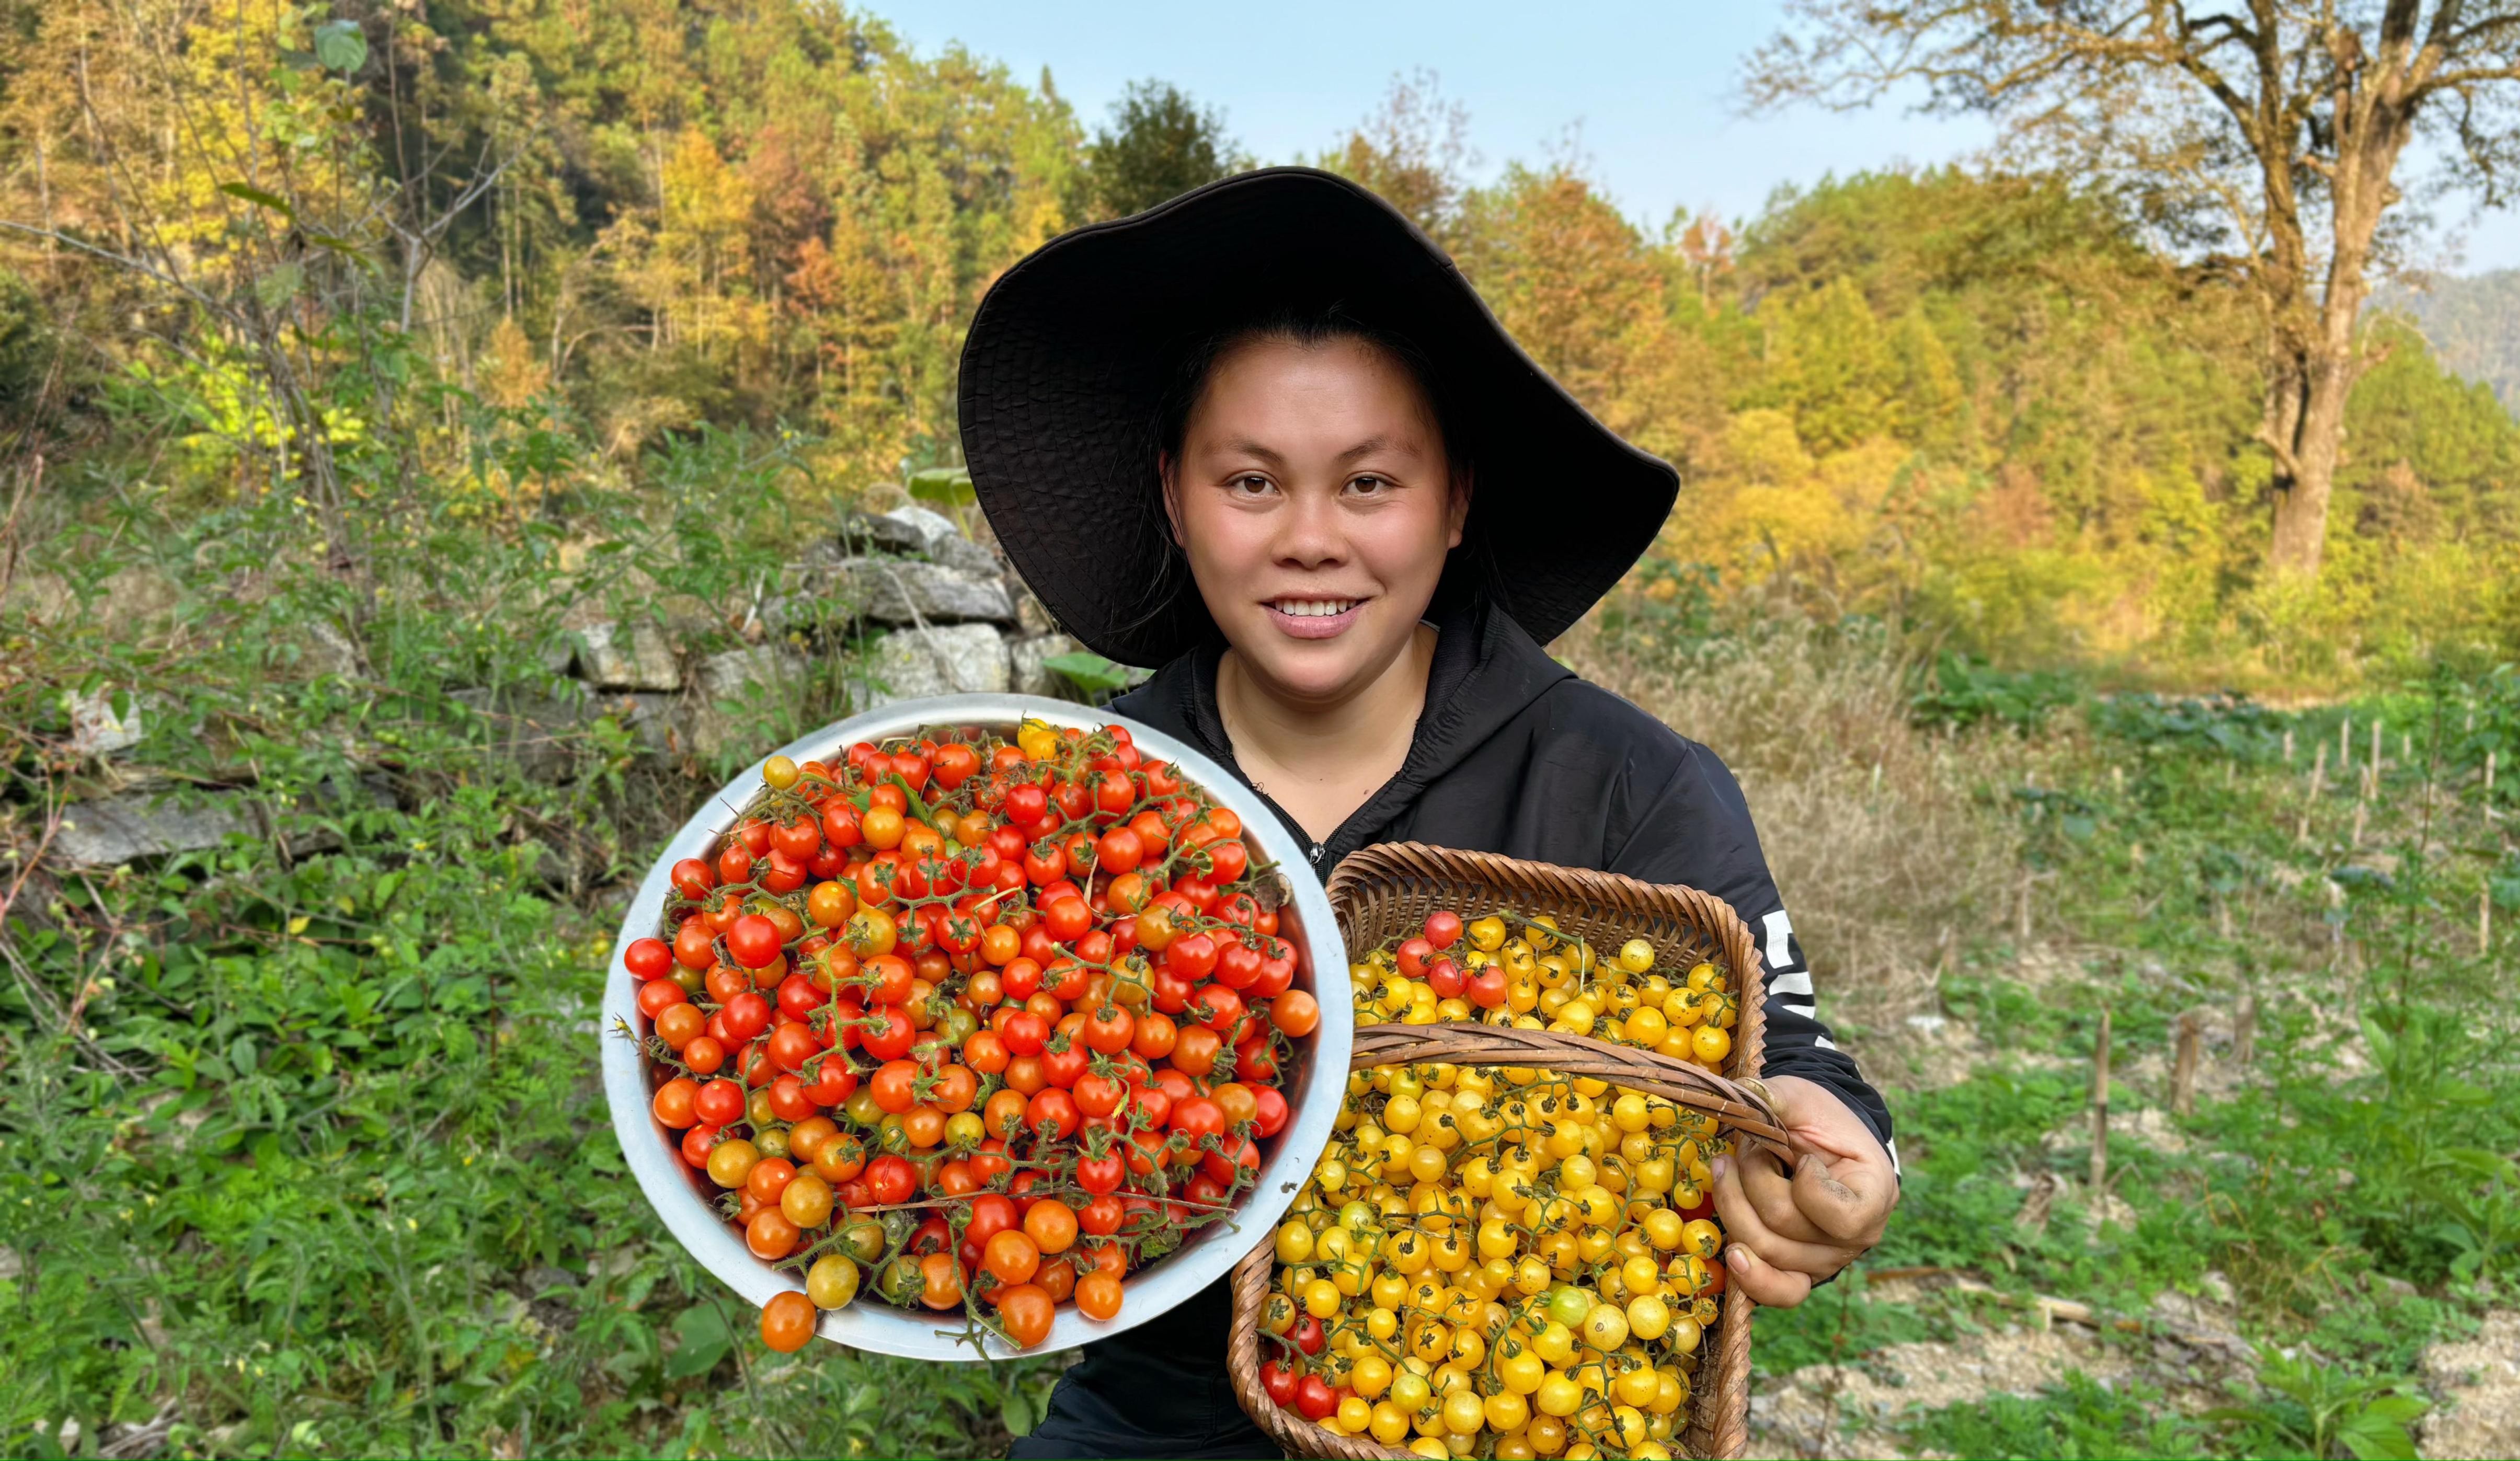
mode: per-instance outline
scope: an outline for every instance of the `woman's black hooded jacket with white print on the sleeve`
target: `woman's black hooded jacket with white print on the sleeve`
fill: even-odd
[[[1550,660],[1507,615],[1436,620],[1426,708],[1399,776],[1326,844],[1288,831],[1328,877],[1376,841],[1429,841],[1686,884],[1729,902],[1767,965],[1767,1076],[1837,1091],[1887,1146],[1890,1111],[1814,1018],[1812,975],[1759,854],[1741,786],[1714,751]],[[1114,710],[1242,776],[1217,718],[1222,642],[1182,655]],[[1247,781],[1247,778],[1245,778]],[[1270,804],[1275,809],[1275,804]],[[1895,1159],[1895,1149],[1893,1149]],[[1275,1456],[1225,1378],[1225,1280],[1086,1348],[1016,1456]]]

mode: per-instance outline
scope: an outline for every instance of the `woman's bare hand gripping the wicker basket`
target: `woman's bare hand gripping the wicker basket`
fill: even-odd
[[[1799,1154],[1792,1171],[1759,1149],[1716,1156],[1724,1267],[1761,1305],[1794,1307],[1812,1285],[1860,1259],[1898,1207],[1898,1171],[1847,1103],[1799,1076],[1767,1078]]]

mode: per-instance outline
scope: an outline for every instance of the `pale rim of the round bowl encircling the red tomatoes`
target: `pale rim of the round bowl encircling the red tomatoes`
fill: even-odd
[[[922,725],[1016,725],[1026,718],[1056,728],[1094,730],[1101,725],[1126,725],[1137,748],[1152,758],[1169,761],[1189,776],[1217,804],[1242,819],[1242,834],[1252,844],[1255,864],[1275,861],[1290,887],[1288,904],[1280,907],[1280,935],[1295,945],[1295,985],[1310,990],[1320,1005],[1320,1025],[1298,1040],[1300,1066],[1280,1086],[1293,1118],[1270,1139],[1275,1146],[1260,1161],[1260,1176],[1245,1197],[1240,1212],[1202,1227],[1179,1249],[1149,1265],[1129,1280],[1129,1300],[1111,1320],[1089,1320],[1076,1305],[1061,1305],[1051,1335],[1028,1348],[1013,1350],[995,1338],[983,1345],[970,1343],[958,1330],[942,1330],[942,1317],[925,1317],[895,1310],[879,1300],[859,1300],[839,1310],[819,1310],[816,1333],[859,1350],[902,1355],[917,1360],[1005,1360],[1016,1355],[1051,1355],[1094,1340],[1131,1330],[1212,1282],[1222,1282],[1235,1262],[1250,1252],[1257,1232],[1278,1224],[1285,1209],[1303,1191],[1313,1166],[1331,1144],[1338,1108],[1346,1098],[1346,1050],[1353,1043],[1353,1010],[1346,977],[1348,955],[1331,914],[1331,897],[1320,874],[1310,864],[1310,849],[1298,841],[1278,814],[1260,801],[1235,773],[1182,741],[1164,736],[1129,715],[1096,710],[1071,700],[1041,695],[932,695],[922,700],[897,700],[847,720],[834,720],[819,730],[799,736],[771,756],[791,761],[837,761],[857,741],[885,741]],[[706,854],[738,819],[741,809],[761,786],[761,768],[769,756],[753,761],[741,776],[728,781],[701,811],[683,824],[658,851],[630,899],[612,942],[612,957],[602,970],[605,995],[597,1018],[602,1043],[605,1098],[612,1106],[612,1131],[620,1139],[622,1159],[638,1179],[648,1204],[665,1219],[665,1229],[706,1267],[733,1287],[753,1307],[761,1307],[781,1290],[804,1292],[804,1282],[789,1272],[756,1259],[731,1224],[708,1209],[693,1176],[685,1169],[675,1136],[650,1113],[650,1086],[640,1045],[630,1030],[645,1033],[648,1023],[638,1013],[638,982],[622,975],[622,957],[633,940],[658,932],[665,894],[673,887],[673,864]],[[1288,919],[1293,909],[1293,919]],[[1336,977],[1336,982],[1333,982]],[[1336,1050],[1336,1068],[1323,1078],[1323,1050]],[[1217,1335],[1222,1345],[1225,1335]]]

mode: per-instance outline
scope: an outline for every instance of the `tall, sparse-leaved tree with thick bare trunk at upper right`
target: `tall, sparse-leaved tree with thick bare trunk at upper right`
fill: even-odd
[[[2276,579],[2316,579],[2346,398],[2381,348],[2359,333],[2427,184],[2502,202],[2520,159],[2520,5],[2510,0],[1792,0],[1751,60],[1754,106],[1986,113],[2024,156],[2124,191],[2235,275],[2265,345],[2260,441],[2276,458]]]

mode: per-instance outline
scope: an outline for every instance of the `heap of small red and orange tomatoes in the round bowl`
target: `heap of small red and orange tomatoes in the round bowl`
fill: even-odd
[[[625,955],[650,1108],[769,1265],[1013,1348],[1227,1217],[1320,1010],[1240,819],[1129,730],[774,756]]]

